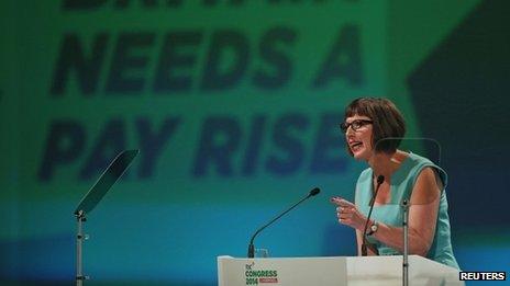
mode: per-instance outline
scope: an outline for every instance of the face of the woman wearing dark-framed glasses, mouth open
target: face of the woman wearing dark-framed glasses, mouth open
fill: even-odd
[[[345,119],[345,139],[354,158],[368,161],[373,156],[372,119],[356,114]]]

